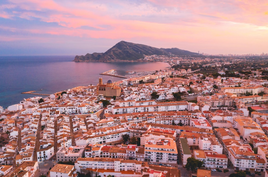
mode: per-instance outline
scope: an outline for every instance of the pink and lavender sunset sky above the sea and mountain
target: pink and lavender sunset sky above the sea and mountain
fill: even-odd
[[[0,1],[0,55],[83,55],[122,40],[206,54],[268,53],[268,1]]]

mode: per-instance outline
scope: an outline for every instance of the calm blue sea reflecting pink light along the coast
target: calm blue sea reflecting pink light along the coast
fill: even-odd
[[[120,78],[101,76],[100,73],[117,69],[126,71],[152,71],[168,67],[166,63],[75,63],[74,56],[0,56],[0,106],[19,103],[33,95],[21,92],[37,90],[38,93],[57,91],[97,84]]]

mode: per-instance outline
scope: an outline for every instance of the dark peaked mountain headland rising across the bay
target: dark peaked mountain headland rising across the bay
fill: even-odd
[[[177,55],[192,56],[197,53],[178,48],[164,49],[155,48],[143,44],[121,41],[107,50],[105,53],[92,53],[75,56],[75,62],[120,62],[120,61],[142,61],[145,55]]]

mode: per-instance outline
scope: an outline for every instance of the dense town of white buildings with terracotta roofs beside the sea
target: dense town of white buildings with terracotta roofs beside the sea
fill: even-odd
[[[100,78],[0,108],[0,175],[268,176],[268,81],[225,74]]]

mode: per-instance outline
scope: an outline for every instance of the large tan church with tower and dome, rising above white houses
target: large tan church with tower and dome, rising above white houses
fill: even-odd
[[[103,84],[102,78],[99,78],[99,84],[97,85],[98,95],[102,94],[106,97],[120,96],[121,88],[115,85],[111,80],[107,81],[107,84]]]

